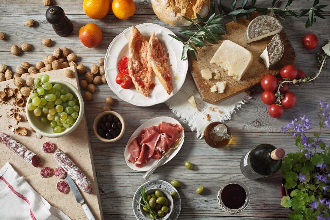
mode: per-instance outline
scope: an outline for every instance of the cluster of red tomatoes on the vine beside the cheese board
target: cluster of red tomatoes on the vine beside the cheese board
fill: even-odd
[[[280,93],[283,94],[281,104],[275,104],[277,97],[275,96],[278,88],[278,82],[283,82],[284,79],[302,79],[306,77],[304,71],[297,70],[292,64],[288,64],[282,67],[281,77],[276,78],[272,75],[267,75],[261,79],[261,87],[265,90],[261,95],[263,103],[270,105],[268,107],[268,113],[273,118],[279,118],[284,113],[284,108],[291,109],[297,104],[297,97],[293,92],[289,92],[290,86],[286,83],[282,84]]]

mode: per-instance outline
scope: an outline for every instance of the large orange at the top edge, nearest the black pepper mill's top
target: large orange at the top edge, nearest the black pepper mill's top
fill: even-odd
[[[93,19],[104,18],[110,10],[110,0],[84,0],[82,8]]]

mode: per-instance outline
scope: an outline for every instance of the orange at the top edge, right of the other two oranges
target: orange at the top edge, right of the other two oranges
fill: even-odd
[[[135,4],[133,0],[114,0],[112,12],[117,18],[127,20],[135,14]]]

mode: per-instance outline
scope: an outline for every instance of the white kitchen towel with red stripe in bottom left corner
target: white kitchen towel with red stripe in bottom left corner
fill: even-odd
[[[0,170],[0,213],[1,219],[70,220],[41,197],[9,163]]]

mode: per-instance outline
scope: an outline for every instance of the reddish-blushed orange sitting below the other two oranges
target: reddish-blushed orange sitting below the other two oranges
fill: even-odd
[[[96,24],[88,23],[80,28],[79,39],[86,47],[96,47],[102,41],[102,31]]]

